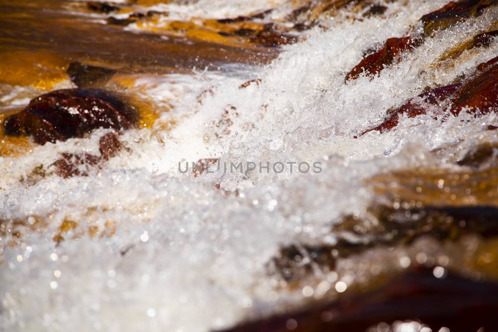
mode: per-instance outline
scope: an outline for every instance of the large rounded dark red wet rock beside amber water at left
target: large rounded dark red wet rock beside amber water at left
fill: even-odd
[[[41,95],[5,119],[7,135],[33,135],[39,144],[82,137],[96,128],[128,129],[137,120],[132,106],[98,89],[67,89]]]

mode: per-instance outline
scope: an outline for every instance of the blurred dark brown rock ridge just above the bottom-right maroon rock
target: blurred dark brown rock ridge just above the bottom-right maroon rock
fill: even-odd
[[[286,282],[306,283],[312,275],[334,271],[336,261],[379,247],[413,245],[423,238],[456,241],[470,235],[498,236],[498,209],[493,206],[403,207],[379,205],[363,218],[346,216],[332,226],[334,244],[292,244],[268,264],[269,274]],[[351,239],[355,240],[351,240]]]

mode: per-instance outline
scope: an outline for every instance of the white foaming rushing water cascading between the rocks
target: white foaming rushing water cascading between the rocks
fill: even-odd
[[[448,49],[495,24],[493,7],[427,38],[378,77],[345,83],[365,50],[421,31],[419,18],[446,2],[388,2],[382,15],[371,17],[347,9],[322,15],[320,24],[301,32],[302,41],[281,46],[266,65],[194,58],[194,66],[202,64],[182,73],[123,76],[125,93],[146,99],[158,116],[151,128],[123,132],[126,148],[87,177],[36,178],[33,170],[49,170],[63,152],[98,154],[107,129],[1,157],[0,329],[211,331],[353,285],[361,272],[343,268],[339,275],[316,271],[309,284],[288,289],[268,272],[268,262],[282,246],[334,243],[331,225],[388,200],[374,194],[373,176],[458,171],[452,162],[469,147],[497,141],[496,131],[486,130],[497,125],[495,113],[444,122],[401,116],[395,130],[354,138],[426,86],[451,84],[498,55],[493,40],[486,49],[438,63]],[[276,7],[264,20],[284,21],[293,9],[285,1],[137,6],[182,20]],[[95,24],[103,24],[95,15]],[[150,31],[153,24],[161,21],[125,31]],[[241,88],[250,80],[257,81]],[[57,84],[72,87],[68,79]],[[39,94],[30,85],[3,85],[2,91],[4,110]],[[430,152],[442,148],[442,154]],[[243,162],[245,172],[179,172],[179,162],[184,168],[203,158]],[[247,162],[318,162],[322,171],[246,171]],[[58,233],[64,240],[54,240]],[[402,269],[406,260],[398,264],[392,268]]]

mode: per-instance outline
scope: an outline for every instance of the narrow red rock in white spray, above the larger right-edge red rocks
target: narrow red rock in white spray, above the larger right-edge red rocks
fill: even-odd
[[[410,37],[389,38],[377,52],[367,56],[346,75],[346,82],[359,78],[363,73],[375,75],[385,66],[400,59],[400,54],[410,49],[413,40]]]

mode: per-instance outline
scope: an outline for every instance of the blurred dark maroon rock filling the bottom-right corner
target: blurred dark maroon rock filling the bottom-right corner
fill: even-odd
[[[356,332],[379,323],[407,319],[421,321],[432,331],[442,327],[452,332],[477,331],[482,327],[495,331],[497,310],[498,284],[476,283],[454,275],[440,279],[430,270],[422,269],[393,278],[366,293],[357,292],[327,304],[274,315],[225,331]]]

